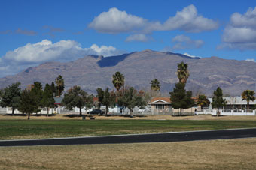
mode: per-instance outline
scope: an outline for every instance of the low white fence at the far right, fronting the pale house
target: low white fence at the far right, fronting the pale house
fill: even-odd
[[[234,110],[219,110],[220,115],[256,115],[255,114],[255,110],[253,110],[252,112],[245,112],[244,110],[241,110],[239,112],[234,111]],[[202,112],[196,112],[196,115],[217,115],[217,110],[209,110],[209,109],[205,109]]]

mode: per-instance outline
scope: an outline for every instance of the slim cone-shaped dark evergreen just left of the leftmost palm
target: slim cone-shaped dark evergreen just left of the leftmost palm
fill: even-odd
[[[47,116],[49,115],[49,108],[54,107],[53,91],[50,89],[50,85],[47,83],[44,87],[44,93],[41,100],[41,106],[47,108]]]

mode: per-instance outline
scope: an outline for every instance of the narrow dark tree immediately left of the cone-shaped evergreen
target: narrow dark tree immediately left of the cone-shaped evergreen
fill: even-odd
[[[38,112],[40,112],[41,110],[39,109],[39,107],[41,106],[41,100],[43,98],[43,88],[41,85],[41,82],[34,82],[34,85],[32,86],[31,89],[31,93],[35,94],[35,113],[37,114]]]

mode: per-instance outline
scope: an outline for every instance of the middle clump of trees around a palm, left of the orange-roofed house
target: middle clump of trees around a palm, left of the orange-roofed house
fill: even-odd
[[[96,97],[98,100],[93,101],[93,94],[87,94],[86,91],[82,90],[79,86],[70,88],[62,100],[62,104],[67,109],[79,108],[80,115],[82,114],[81,109],[86,107],[87,109],[95,106],[100,109],[101,106],[105,106],[105,114],[108,113],[108,108],[111,106],[118,105],[121,108],[128,108],[131,115],[133,114],[133,108],[135,106],[143,107],[146,105],[143,91],[137,91],[133,87],[124,86],[124,76],[120,72],[114,73],[112,76],[112,83],[115,91],[110,91],[109,88],[97,88]]]

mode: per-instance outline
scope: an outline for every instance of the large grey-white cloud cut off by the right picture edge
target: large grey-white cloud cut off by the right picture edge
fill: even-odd
[[[256,49],[256,7],[250,7],[244,14],[233,13],[222,41],[218,49]]]

